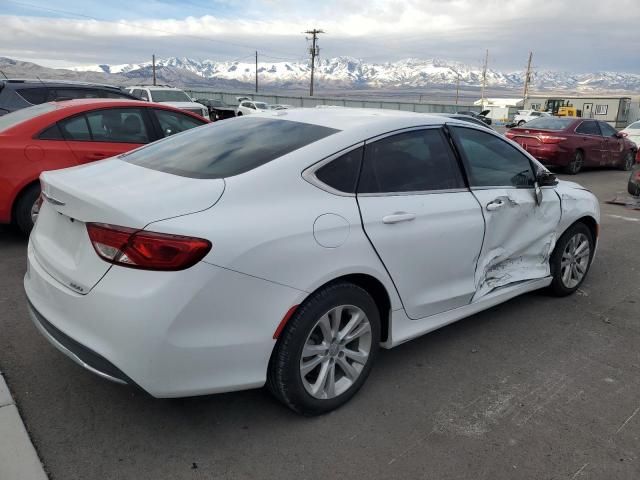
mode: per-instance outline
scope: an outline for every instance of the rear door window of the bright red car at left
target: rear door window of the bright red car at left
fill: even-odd
[[[149,134],[139,108],[109,108],[87,113],[94,142],[148,143]]]

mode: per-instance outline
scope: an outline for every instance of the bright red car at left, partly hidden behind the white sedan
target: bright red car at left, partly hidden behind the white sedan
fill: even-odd
[[[51,102],[0,117],[0,223],[31,231],[45,170],[73,167],[209,123],[200,115],[136,100]]]

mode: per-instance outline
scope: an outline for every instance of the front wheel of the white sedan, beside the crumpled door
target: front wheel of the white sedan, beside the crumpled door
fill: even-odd
[[[582,284],[594,252],[594,239],[584,223],[576,223],[558,240],[551,255],[551,292],[559,297],[571,295]]]

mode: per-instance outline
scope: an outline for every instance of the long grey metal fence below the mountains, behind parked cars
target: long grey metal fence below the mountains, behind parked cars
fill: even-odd
[[[238,97],[249,97],[258,102],[269,104],[284,104],[292,107],[313,108],[318,105],[334,105],[340,107],[355,108],[386,108],[391,110],[404,110],[418,113],[455,113],[458,111],[479,112],[480,107],[476,105],[452,104],[452,103],[423,103],[423,102],[402,102],[395,100],[361,100],[348,97],[295,97],[288,95],[264,95],[255,93],[229,93],[216,92],[211,90],[186,90],[194,98],[208,98],[211,100],[221,100],[228,105],[237,105]]]

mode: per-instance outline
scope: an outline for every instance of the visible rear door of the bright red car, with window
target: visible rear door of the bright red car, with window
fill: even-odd
[[[145,109],[105,108],[59,122],[79,163],[113,157],[155,139]]]

